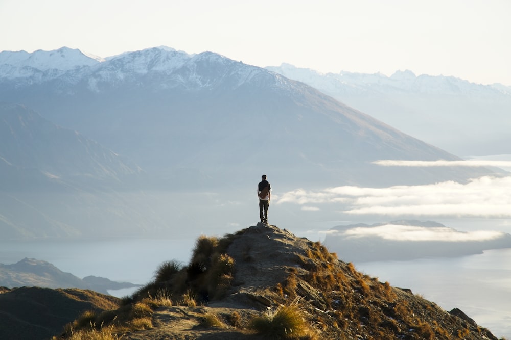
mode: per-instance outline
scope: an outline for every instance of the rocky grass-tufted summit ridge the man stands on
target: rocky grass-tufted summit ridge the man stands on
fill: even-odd
[[[319,242],[260,223],[201,236],[188,265],[162,264],[117,310],[82,315],[59,339],[98,332],[131,340],[497,339],[459,309],[446,311],[358,272]]]

